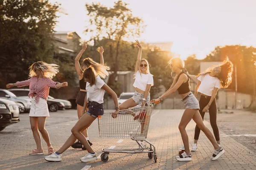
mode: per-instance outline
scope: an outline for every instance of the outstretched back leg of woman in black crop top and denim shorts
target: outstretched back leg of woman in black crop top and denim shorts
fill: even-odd
[[[203,119],[199,113],[199,111],[196,111],[193,120],[195,121],[196,125],[204,132],[204,134],[207,136],[207,138],[210,140],[212,143],[214,149],[219,149],[219,145],[216,142],[214,136],[212,135],[212,132],[204,125]],[[186,147],[185,147],[186,148]]]

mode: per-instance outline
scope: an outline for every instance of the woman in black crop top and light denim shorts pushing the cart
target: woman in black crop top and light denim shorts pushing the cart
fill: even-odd
[[[186,125],[191,121],[191,119],[195,121],[198,127],[205,133],[207,138],[212,143],[215,150],[211,159],[218,159],[224,153],[224,150],[220,146],[218,146],[218,143],[215,141],[211,131],[204,125],[202,117],[200,116],[200,113],[198,111],[198,100],[195,98],[195,96],[191,93],[189,89],[189,74],[184,68],[184,61],[178,57],[175,57],[170,60],[169,65],[172,69],[172,72],[175,72],[177,75],[175,76],[174,81],[169,90],[166,91],[163,95],[161,95],[158,99],[154,100],[160,102],[164,98],[173,94],[175,91],[178,91],[186,107],[179,124],[179,130],[185,147],[185,152],[183,152],[179,156],[176,156],[176,159],[178,161],[192,160],[192,155],[189,150],[189,138],[185,129]]]

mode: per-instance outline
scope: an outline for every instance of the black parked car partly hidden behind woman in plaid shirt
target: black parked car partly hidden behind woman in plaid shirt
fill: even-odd
[[[22,97],[22,98],[25,98],[25,99],[29,99],[29,97],[28,97],[29,89],[16,88],[16,89],[10,89],[9,91],[14,93],[16,96],[19,96],[19,97]],[[60,101],[55,100],[55,99],[51,99],[49,97],[47,99],[47,105],[48,105],[49,111],[51,111],[51,112],[56,112],[58,110],[65,109],[65,105],[64,105],[63,102],[60,102]]]

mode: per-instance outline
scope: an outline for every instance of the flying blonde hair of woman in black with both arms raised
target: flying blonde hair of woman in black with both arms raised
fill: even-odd
[[[90,67],[93,67],[93,71],[95,72],[95,74],[99,75],[103,79],[105,79],[105,77],[108,76],[107,70],[110,70],[110,67],[108,67],[107,65],[99,64],[98,62],[95,62],[93,61],[93,59],[88,57],[83,60],[82,68],[85,71],[87,68],[90,68]]]

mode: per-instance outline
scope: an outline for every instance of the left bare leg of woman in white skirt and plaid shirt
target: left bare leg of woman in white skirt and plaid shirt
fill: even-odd
[[[36,148],[42,150],[41,136],[38,131],[38,117],[29,116],[31,130],[35,139]]]

